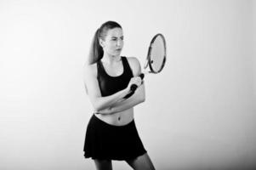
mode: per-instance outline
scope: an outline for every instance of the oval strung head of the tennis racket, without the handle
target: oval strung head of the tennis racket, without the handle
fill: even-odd
[[[158,33],[151,40],[144,68],[149,65],[151,73],[158,73],[162,71],[165,62],[166,41],[163,35],[161,33]]]

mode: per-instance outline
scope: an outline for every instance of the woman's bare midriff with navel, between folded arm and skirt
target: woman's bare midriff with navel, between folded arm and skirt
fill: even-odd
[[[120,111],[110,115],[94,114],[101,121],[114,126],[123,126],[134,120],[134,108],[125,111]]]

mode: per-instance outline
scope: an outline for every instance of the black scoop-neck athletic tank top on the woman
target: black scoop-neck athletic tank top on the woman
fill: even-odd
[[[115,94],[118,91],[127,88],[130,79],[133,76],[133,71],[131,70],[128,59],[126,57],[121,57],[123,72],[122,75],[117,77],[111,77],[105,72],[104,66],[101,63],[101,60],[97,63],[98,75],[97,79],[100,86],[101,96],[108,96]]]

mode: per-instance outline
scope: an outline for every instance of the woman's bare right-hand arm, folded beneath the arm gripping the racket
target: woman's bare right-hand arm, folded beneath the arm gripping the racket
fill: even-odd
[[[134,77],[138,77],[141,73],[139,60],[136,58],[129,59],[129,64],[133,70]],[[125,111],[145,101],[145,83],[140,84],[135,93],[128,99],[120,99],[105,110],[97,111],[100,114],[113,114],[120,111]]]

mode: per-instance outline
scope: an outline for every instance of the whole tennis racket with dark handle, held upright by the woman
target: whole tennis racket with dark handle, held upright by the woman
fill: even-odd
[[[150,47],[148,48],[148,54],[145,59],[144,71],[139,75],[141,79],[144,79],[146,74],[153,73],[157,74],[162,71],[166,62],[166,41],[161,33],[156,34],[151,39]],[[149,71],[147,71],[149,68]],[[124,98],[128,99],[134,94],[135,90],[138,88],[137,85],[132,84],[130,93]]]

